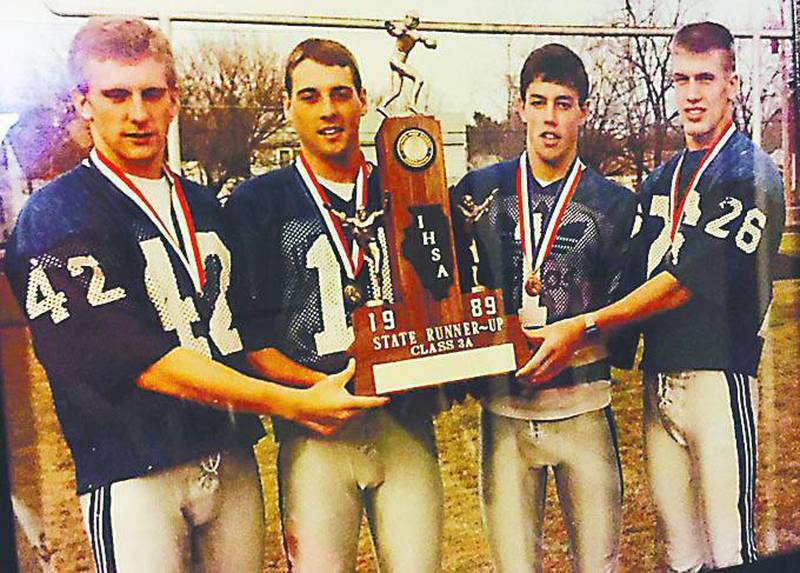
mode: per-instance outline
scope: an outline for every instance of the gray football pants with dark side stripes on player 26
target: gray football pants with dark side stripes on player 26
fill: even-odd
[[[671,571],[756,559],[757,412],[755,378],[645,374],[647,473]]]

